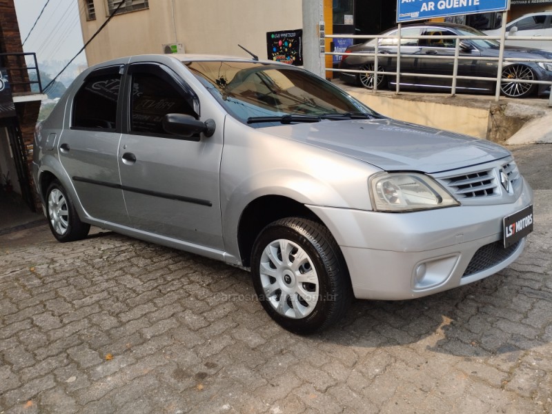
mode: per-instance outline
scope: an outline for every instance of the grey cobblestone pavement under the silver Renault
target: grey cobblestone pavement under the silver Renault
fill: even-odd
[[[509,268],[357,301],[310,337],[271,322],[248,273],[219,262],[99,230],[3,235],[0,413],[549,413],[552,191],[537,187]]]

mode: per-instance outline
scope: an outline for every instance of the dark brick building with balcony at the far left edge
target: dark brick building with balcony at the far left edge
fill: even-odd
[[[30,174],[32,141],[46,95],[31,92],[29,60],[38,72],[33,57],[23,54],[13,0],[0,0],[0,193],[18,195],[34,211],[39,200]]]

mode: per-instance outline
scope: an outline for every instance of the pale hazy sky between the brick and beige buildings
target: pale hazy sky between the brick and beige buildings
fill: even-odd
[[[21,41],[25,41],[46,1],[14,0]],[[36,53],[39,63],[72,59],[83,46],[79,21],[79,5],[83,7],[83,3],[77,0],[50,0],[37,26],[24,42],[23,50]],[[84,52],[74,63],[86,64]]]

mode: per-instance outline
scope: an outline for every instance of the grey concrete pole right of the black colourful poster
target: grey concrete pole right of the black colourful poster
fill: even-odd
[[[303,0],[303,66],[319,77],[326,72],[324,32],[324,0]]]

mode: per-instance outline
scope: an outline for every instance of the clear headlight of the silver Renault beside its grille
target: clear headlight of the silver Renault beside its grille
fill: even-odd
[[[418,172],[380,172],[369,181],[374,210],[405,212],[459,206],[434,179]]]

